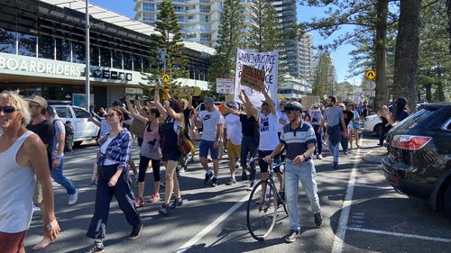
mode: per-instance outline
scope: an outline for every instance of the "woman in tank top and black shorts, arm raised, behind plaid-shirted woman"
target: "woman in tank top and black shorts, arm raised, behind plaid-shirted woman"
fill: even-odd
[[[127,99],[127,104],[130,104],[130,100]],[[146,107],[145,107],[146,108]],[[152,161],[153,172],[153,194],[151,195],[150,202],[157,202],[160,200],[160,163],[161,163],[161,150],[160,150],[160,134],[158,118],[160,112],[155,107],[148,108],[146,111],[146,117],[131,110],[134,121],[140,121],[145,124],[143,131],[143,144],[140,149],[140,166],[138,176],[138,197],[134,205],[136,208],[144,205],[144,179],[145,172],[149,166],[149,162]]]

